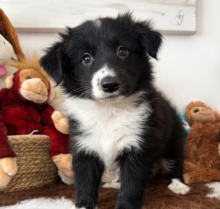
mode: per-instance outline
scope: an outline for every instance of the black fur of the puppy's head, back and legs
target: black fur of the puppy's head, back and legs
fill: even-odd
[[[148,22],[134,21],[130,14],[117,18],[102,18],[101,25],[87,21],[61,34],[62,40],[52,46],[41,59],[45,70],[59,84],[62,81],[65,93],[83,98],[91,91],[92,75],[107,63],[117,69],[120,80],[119,96],[131,96],[144,92],[136,105],[148,102],[152,112],[144,123],[145,131],[141,149],[124,149],[115,161],[120,167],[121,189],[116,209],[140,209],[146,184],[152,167],[160,160],[173,162],[167,170],[170,179],[182,179],[184,130],[175,109],[153,86],[150,57],[157,58],[162,42],[160,33],[153,31]],[[129,54],[118,56],[118,47],[125,46]],[[84,54],[91,55],[92,62],[86,65]],[[81,88],[84,87],[84,88]],[[79,91],[74,91],[79,89]],[[91,100],[96,98],[90,95]],[[77,121],[70,118],[72,142],[77,131]],[[97,155],[78,152],[74,145],[76,206],[94,209],[97,206],[98,187],[105,165]]]

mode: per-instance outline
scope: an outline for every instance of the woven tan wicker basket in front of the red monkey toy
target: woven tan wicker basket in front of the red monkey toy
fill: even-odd
[[[9,136],[18,159],[18,172],[0,192],[21,191],[41,187],[57,180],[57,168],[50,155],[50,139],[46,135]]]

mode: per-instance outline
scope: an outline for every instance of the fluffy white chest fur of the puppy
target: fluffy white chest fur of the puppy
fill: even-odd
[[[132,98],[119,103],[68,98],[65,106],[83,133],[75,137],[78,148],[98,154],[106,167],[115,169],[114,162],[124,149],[140,149],[139,136],[150,113],[146,103],[136,106]]]

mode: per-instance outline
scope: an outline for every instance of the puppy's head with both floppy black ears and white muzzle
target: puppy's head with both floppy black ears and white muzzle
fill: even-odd
[[[161,34],[130,14],[87,21],[61,34],[41,59],[66,93],[93,100],[126,97],[152,82],[149,56],[157,58]]]

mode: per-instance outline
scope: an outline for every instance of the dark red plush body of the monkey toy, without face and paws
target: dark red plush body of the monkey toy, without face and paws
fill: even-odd
[[[7,135],[30,134],[37,130],[51,139],[51,156],[68,153],[69,136],[56,130],[48,104],[35,104],[25,100],[19,93],[20,82],[15,73],[11,89],[0,90],[0,158],[14,157],[8,145]]]

